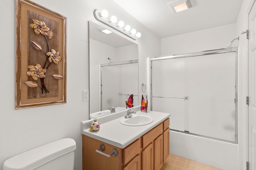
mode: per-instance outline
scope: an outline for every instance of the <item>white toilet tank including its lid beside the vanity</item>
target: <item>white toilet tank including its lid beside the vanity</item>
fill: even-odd
[[[74,170],[74,139],[64,138],[7,159],[3,170]]]

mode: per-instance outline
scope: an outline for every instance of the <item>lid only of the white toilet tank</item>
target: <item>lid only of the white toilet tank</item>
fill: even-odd
[[[7,159],[3,170],[32,170],[75,149],[74,139],[60,139]]]

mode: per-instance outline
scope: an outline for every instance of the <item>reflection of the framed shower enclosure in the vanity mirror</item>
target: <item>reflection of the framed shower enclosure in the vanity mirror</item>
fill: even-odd
[[[100,64],[99,90],[101,111],[109,105],[125,109],[128,94],[134,95],[138,106],[138,60]]]

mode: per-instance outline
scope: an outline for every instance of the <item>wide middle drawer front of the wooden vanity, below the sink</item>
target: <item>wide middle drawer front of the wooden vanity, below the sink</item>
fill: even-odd
[[[157,125],[154,129],[142,136],[142,148],[150,144],[163,132],[163,123]]]

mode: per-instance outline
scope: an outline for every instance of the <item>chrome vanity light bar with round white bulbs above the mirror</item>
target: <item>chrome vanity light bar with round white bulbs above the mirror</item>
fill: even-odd
[[[124,21],[118,21],[116,16],[108,17],[107,10],[94,10],[93,14],[96,20],[110,26],[120,33],[123,33],[131,39],[136,40],[137,38],[141,37],[140,32],[137,32],[136,29],[131,29],[130,25],[124,25]]]

